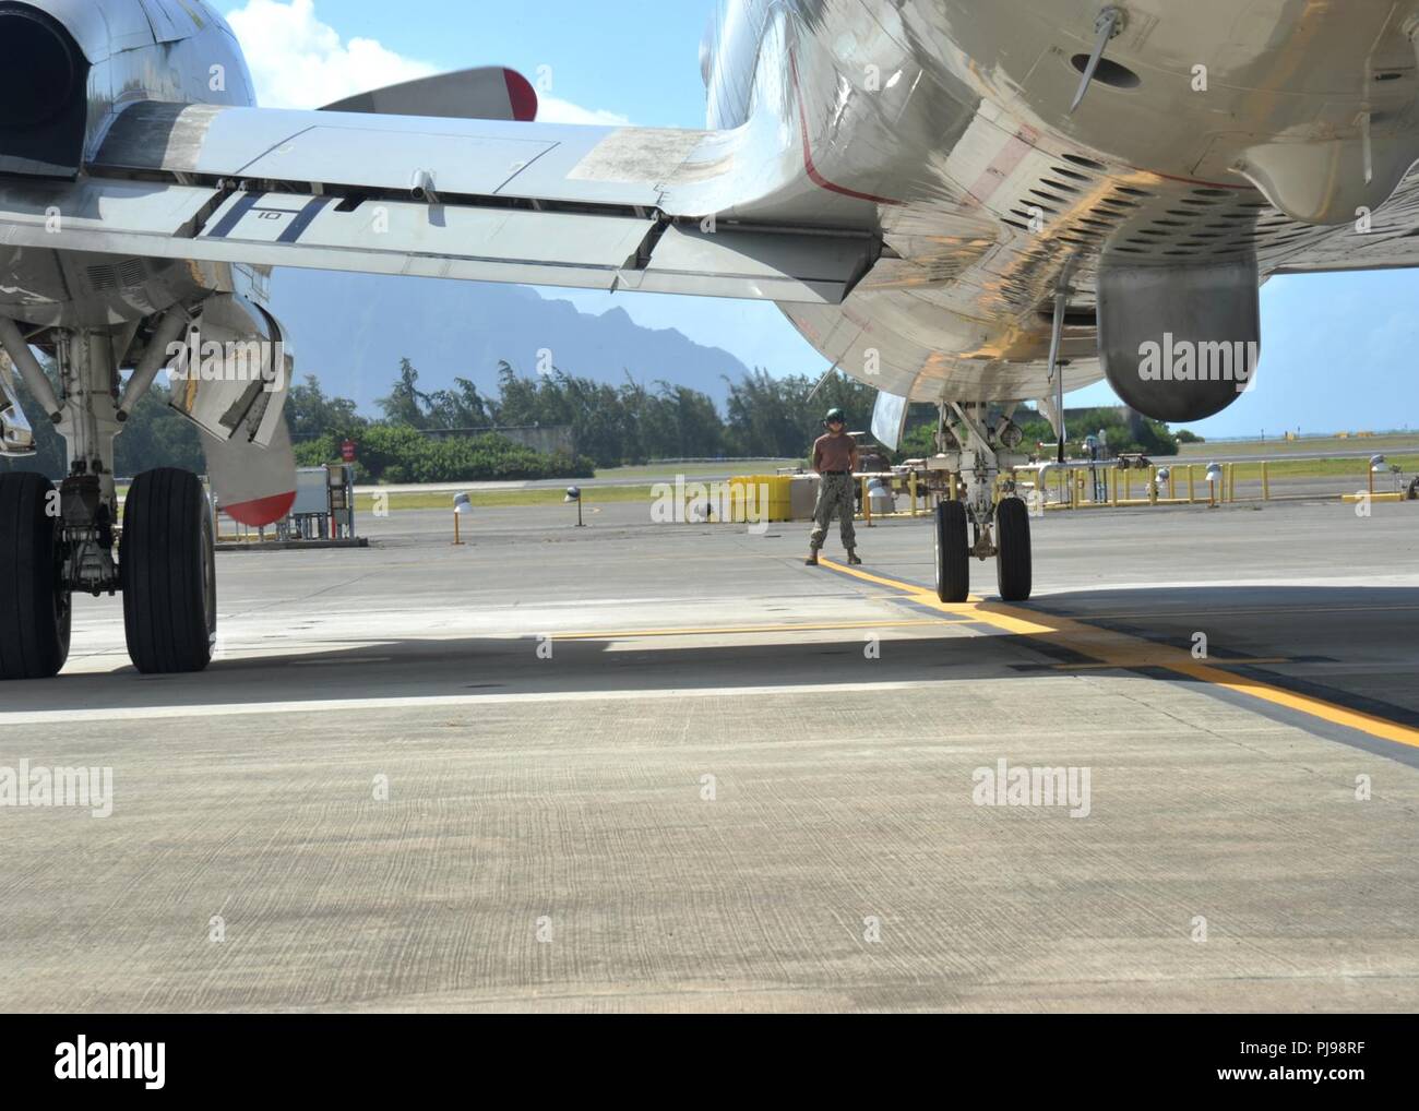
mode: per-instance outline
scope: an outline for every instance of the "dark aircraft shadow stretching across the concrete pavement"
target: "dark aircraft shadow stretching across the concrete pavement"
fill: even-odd
[[[1121,664],[1107,674],[1156,678],[1159,657],[1168,648],[1189,650],[1199,631],[1208,637],[1209,660],[1239,668],[1237,674],[1270,678],[1269,667],[1284,663],[1351,665],[1354,677],[1327,671],[1325,685],[1311,682],[1310,692],[1419,725],[1419,690],[1412,682],[1419,653],[1413,637],[1419,587],[1145,587],[1042,596],[1027,606],[986,600],[981,609],[1015,616],[1029,610],[1042,624],[1060,616],[1121,634],[1130,650],[1137,647],[1137,664]],[[477,692],[692,692],[1104,674],[1087,654],[1088,646],[1076,648],[1067,634],[1025,636],[971,620],[944,621],[939,633],[931,624],[894,626],[894,620],[941,616],[905,599],[898,613],[884,614],[881,630],[785,629],[741,634],[728,644],[694,643],[708,639],[704,636],[555,639],[551,658],[543,658],[546,646],[538,637],[482,636],[387,639],[304,656],[217,658],[207,671],[192,675],[138,675],[123,667],[102,675],[6,684],[6,709],[265,702],[318,709],[321,702],[338,700]],[[868,651],[874,634],[880,637],[877,658]],[[1257,663],[1249,665],[1247,660]],[[1398,677],[1393,681],[1386,678],[1391,664]],[[1410,680],[1405,681],[1405,674]],[[1176,673],[1168,677],[1185,678]]]

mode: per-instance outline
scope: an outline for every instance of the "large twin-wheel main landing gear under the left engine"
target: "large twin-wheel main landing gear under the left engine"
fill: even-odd
[[[118,356],[133,345],[132,329],[51,333],[58,396],[28,339],[0,328],[6,353],[64,436],[68,477],[55,490],[37,474],[0,475],[0,680],[58,674],[74,595],[119,590],[133,665],[200,671],[217,633],[213,518],[201,482],[172,468],[138,475],[118,528],[114,437],[138,400],[119,403]],[[150,333],[132,379],[139,393],[152,382],[145,365],[163,348],[165,333]]]

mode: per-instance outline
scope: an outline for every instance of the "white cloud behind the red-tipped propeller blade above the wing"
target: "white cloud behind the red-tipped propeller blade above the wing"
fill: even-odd
[[[438,67],[396,54],[373,38],[342,40],[315,14],[315,0],[247,0],[227,21],[241,40],[257,99],[265,108],[319,108],[438,72]],[[556,96],[538,99],[538,119],[546,123],[630,122]]]

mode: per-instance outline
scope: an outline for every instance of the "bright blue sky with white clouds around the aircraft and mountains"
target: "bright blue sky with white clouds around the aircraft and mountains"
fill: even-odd
[[[423,72],[549,67],[562,119],[704,126],[698,45],[712,0],[226,0],[263,101],[314,106]],[[363,41],[360,41],[363,40]],[[332,92],[333,91],[333,92]],[[546,98],[545,98],[546,99]],[[302,104],[304,101],[304,104]],[[819,375],[827,362],[772,306],[647,294],[542,291],[585,312],[624,308],[749,366]],[[1419,427],[1419,271],[1277,278],[1261,289],[1256,387],[1195,427],[1269,436]],[[1070,396],[1107,404],[1103,383]]]

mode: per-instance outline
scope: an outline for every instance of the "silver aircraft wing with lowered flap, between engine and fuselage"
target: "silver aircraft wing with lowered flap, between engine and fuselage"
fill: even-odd
[[[874,230],[736,217],[736,155],[721,132],[139,102],[77,182],[0,183],[0,245],[841,302]]]

